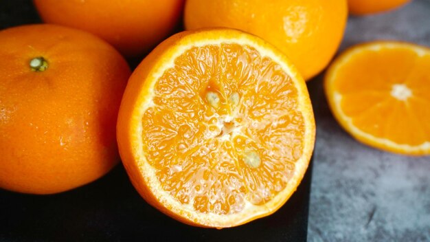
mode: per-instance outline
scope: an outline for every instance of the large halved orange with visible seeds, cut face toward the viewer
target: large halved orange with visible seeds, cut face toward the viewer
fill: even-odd
[[[286,202],[308,167],[315,122],[284,54],[238,30],[201,30],[170,37],[135,69],[117,134],[148,203],[224,228]]]

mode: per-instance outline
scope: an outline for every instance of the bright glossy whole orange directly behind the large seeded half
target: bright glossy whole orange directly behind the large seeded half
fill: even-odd
[[[235,28],[278,47],[309,80],[324,69],[343,37],[346,0],[188,0],[185,29]]]

